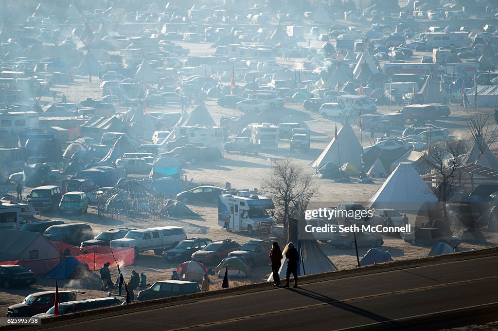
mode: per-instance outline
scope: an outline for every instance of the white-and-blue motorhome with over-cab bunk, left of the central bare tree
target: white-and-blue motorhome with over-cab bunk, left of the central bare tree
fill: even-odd
[[[218,195],[218,225],[231,232],[247,230],[252,235],[255,230],[268,232],[274,223],[267,209],[274,209],[270,198],[239,192],[239,195]]]

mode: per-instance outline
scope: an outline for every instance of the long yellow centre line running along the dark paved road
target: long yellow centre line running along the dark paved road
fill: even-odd
[[[472,283],[472,282],[486,281],[486,280],[491,280],[491,279],[495,279],[495,278],[498,278],[498,276],[475,278],[475,279],[469,279],[466,281],[458,281],[458,282],[444,283],[444,284],[438,284],[438,285],[423,286],[423,287],[417,287],[417,288],[413,288],[413,289],[406,289],[406,290],[399,290],[399,291],[383,292],[383,293],[378,293],[378,294],[373,294],[373,295],[368,295],[368,296],[344,299],[344,300],[329,300],[327,302],[322,302],[319,304],[299,306],[299,307],[276,310],[276,311],[272,311],[272,312],[265,312],[265,313],[259,313],[259,314],[254,314],[254,315],[241,316],[241,317],[236,317],[233,319],[204,323],[204,324],[197,324],[197,325],[184,327],[184,328],[178,328],[178,329],[168,329],[168,331],[181,331],[181,330],[189,330],[189,329],[193,329],[193,328],[212,327],[215,325],[244,321],[244,320],[248,320],[248,319],[255,318],[255,317],[268,316],[268,315],[273,315],[273,314],[278,314],[278,313],[287,313],[287,312],[292,312],[292,311],[301,310],[301,309],[322,307],[322,306],[330,305],[331,303],[351,302],[351,301],[355,301],[355,300],[371,299],[371,298],[386,296],[386,295],[417,292],[417,291],[423,291],[423,290],[428,290],[428,289],[438,288],[438,287],[446,287],[446,286],[453,286],[453,285],[458,285],[458,284],[466,284],[466,283]]]

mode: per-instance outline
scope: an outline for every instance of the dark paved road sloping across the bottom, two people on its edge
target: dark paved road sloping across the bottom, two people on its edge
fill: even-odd
[[[344,279],[316,281],[298,289],[268,289],[203,298],[171,307],[131,311],[98,319],[61,321],[50,330],[340,330],[374,326],[399,330],[403,321],[463,319],[440,312],[498,301],[498,256],[412,267]],[[150,307],[152,308],[152,307]],[[498,319],[496,307],[493,314]],[[436,314],[438,313],[438,314]],[[424,316],[425,315],[425,316]],[[469,314],[467,314],[469,315]],[[442,316],[442,317],[441,317]],[[445,320],[447,319],[447,320]],[[427,322],[424,322],[427,323]],[[68,324],[71,324],[70,326]],[[428,324],[428,323],[427,323]],[[444,324],[443,324],[444,325]],[[49,326],[46,326],[47,328]],[[313,328],[313,329],[311,329]],[[434,328],[434,326],[433,326]],[[33,330],[44,330],[40,327]],[[430,328],[424,328],[430,330]]]

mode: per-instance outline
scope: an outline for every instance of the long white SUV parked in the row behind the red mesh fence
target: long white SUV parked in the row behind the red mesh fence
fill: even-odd
[[[180,226],[162,226],[149,229],[132,230],[124,238],[111,240],[112,247],[134,248],[135,258],[145,251],[154,251],[161,255],[166,249],[175,247],[187,239],[185,230]]]

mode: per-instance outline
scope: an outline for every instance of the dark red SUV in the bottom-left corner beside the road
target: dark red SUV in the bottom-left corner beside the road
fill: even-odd
[[[85,292],[79,292],[85,294]],[[75,301],[76,293],[72,291],[59,291],[59,302]],[[36,292],[28,295],[20,304],[9,306],[7,317],[31,317],[45,313],[54,306],[55,291]]]

